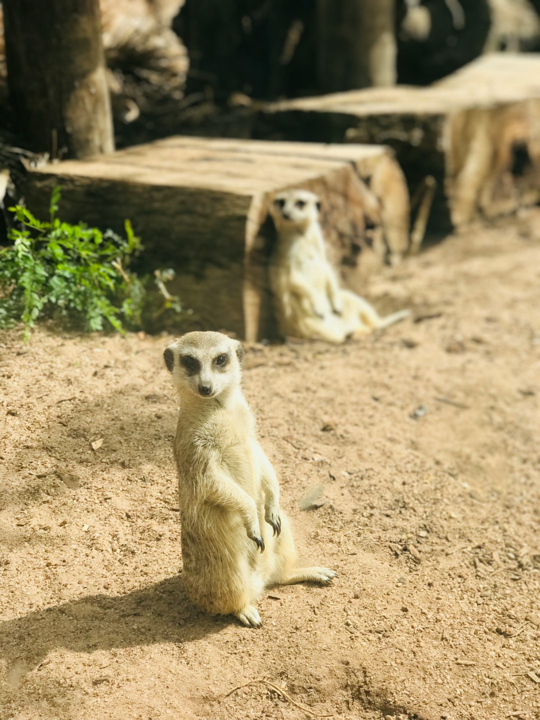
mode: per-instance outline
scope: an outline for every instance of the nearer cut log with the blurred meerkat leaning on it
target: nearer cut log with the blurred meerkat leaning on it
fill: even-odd
[[[391,151],[374,145],[168,138],[36,168],[26,197],[38,217],[56,185],[63,220],[119,232],[131,220],[145,258],[176,271],[172,290],[193,310],[190,328],[249,341],[275,334],[266,273],[274,193],[302,187],[321,197],[328,254],[351,289],[407,249],[405,178]]]

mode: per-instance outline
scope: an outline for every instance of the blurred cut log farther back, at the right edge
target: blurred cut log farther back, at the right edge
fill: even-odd
[[[539,76],[540,55],[488,55],[429,88],[271,104],[253,136],[390,145],[412,191],[435,177],[431,228],[446,230],[539,202]]]

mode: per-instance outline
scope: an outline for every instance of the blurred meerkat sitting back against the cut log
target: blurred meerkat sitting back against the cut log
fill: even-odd
[[[320,199],[307,190],[279,193],[271,206],[278,240],[269,277],[280,332],[343,343],[407,318],[410,310],[382,318],[364,298],[339,287],[326,258],[319,212]]]

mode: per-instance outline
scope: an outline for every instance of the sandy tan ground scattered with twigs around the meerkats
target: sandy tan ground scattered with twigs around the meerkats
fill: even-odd
[[[261,630],[182,590],[170,338],[1,334],[1,719],[539,719],[534,220],[374,279],[418,322],[249,348],[297,545],[339,574],[271,588]]]

